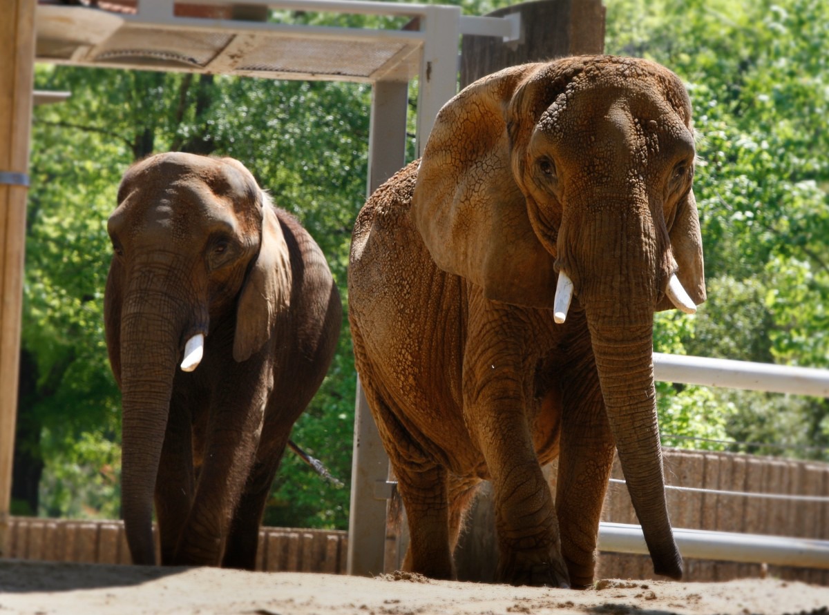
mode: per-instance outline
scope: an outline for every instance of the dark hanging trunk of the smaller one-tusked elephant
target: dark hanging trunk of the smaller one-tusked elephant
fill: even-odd
[[[170,298],[130,293],[121,321],[121,516],[134,564],[155,564],[153,494],[181,343],[160,306]]]

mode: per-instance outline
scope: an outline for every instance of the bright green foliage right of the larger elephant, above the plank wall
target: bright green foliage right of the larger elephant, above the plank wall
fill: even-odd
[[[817,0],[608,2],[607,51],[675,70],[695,109],[709,299],[695,317],[657,318],[657,350],[827,366],[827,20]],[[802,456],[829,442],[826,400],[677,388],[661,385],[667,433],[715,427]]]

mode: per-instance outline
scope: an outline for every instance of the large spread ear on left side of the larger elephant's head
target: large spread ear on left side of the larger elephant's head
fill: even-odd
[[[543,69],[526,64],[469,85],[444,105],[420,162],[411,215],[440,269],[488,299],[551,308],[556,274],[511,170],[508,109]],[[531,119],[526,119],[531,121]]]

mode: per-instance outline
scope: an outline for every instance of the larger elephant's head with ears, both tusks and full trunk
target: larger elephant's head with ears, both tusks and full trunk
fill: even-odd
[[[584,309],[599,383],[658,573],[681,576],[667,519],[653,312],[705,300],[691,104],[649,61],[581,56],[502,70],[441,110],[412,216],[441,269],[489,299]],[[560,325],[565,327],[566,325]]]

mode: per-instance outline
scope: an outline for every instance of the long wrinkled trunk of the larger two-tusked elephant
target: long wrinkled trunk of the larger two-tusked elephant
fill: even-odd
[[[667,239],[667,231],[657,232],[647,206],[608,210],[618,215],[596,215],[594,225],[581,229],[604,244],[594,244],[570,260],[581,264],[575,269],[575,290],[587,317],[608,423],[654,570],[681,579],[682,559],[667,514],[653,380],[653,312],[662,280],[672,273],[670,246],[660,240],[661,235]]]

